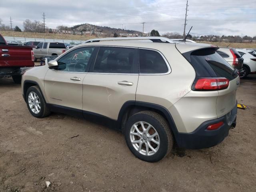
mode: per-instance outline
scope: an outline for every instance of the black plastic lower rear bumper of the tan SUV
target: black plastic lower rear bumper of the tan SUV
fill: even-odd
[[[230,128],[236,126],[237,105],[226,115],[202,123],[191,133],[178,133],[176,142],[179,147],[189,149],[209,148],[219,144],[228,136]],[[218,122],[224,122],[217,130],[209,131],[206,128]]]

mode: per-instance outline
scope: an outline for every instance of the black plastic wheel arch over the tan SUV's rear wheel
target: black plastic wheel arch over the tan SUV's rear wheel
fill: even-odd
[[[172,115],[165,107],[160,106],[158,104],[140,102],[140,101],[127,101],[123,104],[118,115],[118,127],[121,127],[122,132],[124,130],[124,126],[128,118],[144,110],[154,111],[162,115],[168,122],[170,126],[170,130],[174,133],[174,137],[177,136],[178,130],[176,128],[175,122],[172,118]]]

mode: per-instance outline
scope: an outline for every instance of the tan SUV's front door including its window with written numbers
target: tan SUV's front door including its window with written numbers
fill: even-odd
[[[57,60],[58,68],[48,70],[44,92],[49,104],[82,110],[82,82],[90,67],[94,47],[72,50]]]

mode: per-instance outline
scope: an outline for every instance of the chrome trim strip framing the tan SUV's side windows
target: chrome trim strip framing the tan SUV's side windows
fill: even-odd
[[[168,71],[166,73],[99,73],[99,72],[69,72],[69,71],[59,71],[59,70],[55,70],[55,69],[52,69],[52,70],[55,70],[55,71],[59,71],[59,72],[66,72],[66,73],[88,73],[88,74],[112,74],[112,75],[167,75],[167,74],[170,74],[172,72],[172,69],[170,67],[170,64],[168,63],[168,61],[166,60],[166,58],[164,57],[164,55],[159,51],[159,50],[156,50],[156,49],[150,49],[150,48],[140,48],[140,47],[130,47],[130,46],[113,46],[113,45],[84,45],[84,46],[79,46],[79,47],[76,47],[74,49],[70,49],[68,50],[65,54],[63,54],[62,56],[60,56],[59,58],[56,58],[56,61],[58,62],[58,60],[60,58],[62,58],[64,55],[68,54],[69,52],[73,51],[73,50],[76,50],[78,48],[84,48],[84,47],[117,47],[117,48],[136,48],[136,49],[142,49],[142,50],[151,50],[151,51],[156,51],[158,52],[162,58],[164,59],[164,62],[168,68]]]

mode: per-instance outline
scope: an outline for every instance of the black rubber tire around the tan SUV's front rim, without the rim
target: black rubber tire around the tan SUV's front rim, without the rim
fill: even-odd
[[[28,96],[30,94],[30,92],[35,92],[37,95],[38,95],[38,98],[40,100],[40,105],[41,105],[41,108],[40,108],[40,112],[38,113],[34,113],[31,109],[30,109],[30,106],[28,104]],[[28,110],[29,112],[34,116],[34,117],[37,117],[37,118],[44,118],[46,116],[49,116],[50,115],[50,109],[47,107],[46,105],[46,102],[44,100],[44,97],[42,96],[42,93],[40,91],[40,89],[38,88],[38,86],[31,86],[30,88],[28,88],[27,92],[26,92],[26,103],[27,103],[27,106],[28,106]]]

